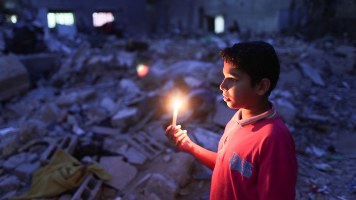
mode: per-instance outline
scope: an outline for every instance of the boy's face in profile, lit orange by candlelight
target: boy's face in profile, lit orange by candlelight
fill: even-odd
[[[234,69],[229,63],[224,62],[224,80],[220,84],[223,91],[224,101],[227,106],[233,109],[252,109],[259,100],[258,84],[251,87],[250,76],[239,70]]]

